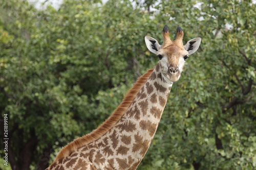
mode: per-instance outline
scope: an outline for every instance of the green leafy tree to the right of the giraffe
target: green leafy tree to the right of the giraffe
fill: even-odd
[[[199,35],[202,43],[171,90],[141,167],[254,169],[254,5],[203,1],[197,9],[195,3],[159,5],[156,17],[171,17],[185,30],[184,41]]]

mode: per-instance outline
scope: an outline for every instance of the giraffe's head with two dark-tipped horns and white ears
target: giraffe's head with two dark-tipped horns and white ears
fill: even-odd
[[[160,71],[165,80],[176,82],[179,80],[184,64],[190,54],[195,53],[201,43],[201,37],[189,40],[183,45],[183,31],[180,26],[177,27],[177,38],[170,40],[169,30],[165,25],[163,28],[163,44],[152,37],[145,36],[145,42],[148,50],[156,54],[159,58]]]

